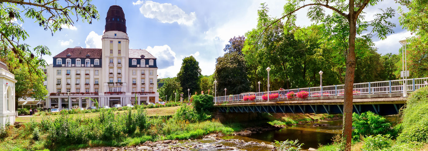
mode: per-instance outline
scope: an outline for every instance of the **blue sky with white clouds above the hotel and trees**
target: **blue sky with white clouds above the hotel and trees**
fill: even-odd
[[[199,61],[202,75],[211,75],[216,58],[224,54],[223,48],[230,38],[244,35],[256,27],[257,10],[266,3],[271,17],[280,17],[286,0],[92,0],[100,14],[92,24],[77,22],[54,33],[43,30],[34,20],[26,19],[22,27],[30,37],[30,46],[45,45],[52,52],[45,56],[48,64],[52,57],[67,48],[101,48],[105,17],[111,5],[119,5],[125,13],[130,49],[146,49],[157,58],[158,78],[175,77],[182,59],[193,55]],[[366,20],[380,13],[379,9],[398,9],[393,0],[379,2],[364,9]],[[307,9],[297,11],[297,26],[309,26]],[[327,11],[328,12],[328,11]],[[398,23],[398,13],[390,19],[396,24],[394,33],[385,40],[374,39],[378,53],[398,53],[398,41],[411,36]]]

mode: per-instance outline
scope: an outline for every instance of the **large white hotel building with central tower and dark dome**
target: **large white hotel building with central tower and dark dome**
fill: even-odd
[[[125,14],[110,6],[102,49],[68,48],[53,57],[46,74],[44,108],[112,107],[159,102],[156,58],[145,49],[129,49]]]

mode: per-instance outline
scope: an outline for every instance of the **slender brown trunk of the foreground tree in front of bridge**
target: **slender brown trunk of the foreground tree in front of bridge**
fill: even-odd
[[[345,94],[344,94],[344,105],[343,105],[343,141],[346,142],[345,151],[351,151],[351,139],[352,139],[352,101],[354,88],[354,72],[355,72],[355,36],[356,36],[356,24],[357,17],[354,11],[354,0],[349,0],[349,50],[346,55],[346,71],[345,71]]]

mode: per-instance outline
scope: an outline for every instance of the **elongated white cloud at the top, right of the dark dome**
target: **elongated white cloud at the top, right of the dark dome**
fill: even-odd
[[[134,5],[142,5],[140,7],[141,14],[147,18],[156,18],[162,23],[174,23],[184,25],[192,25],[196,20],[195,12],[190,12],[190,14],[186,14],[182,9],[180,9],[176,5],[172,5],[170,3],[156,3],[153,1],[143,1],[138,0],[136,3],[132,3]]]

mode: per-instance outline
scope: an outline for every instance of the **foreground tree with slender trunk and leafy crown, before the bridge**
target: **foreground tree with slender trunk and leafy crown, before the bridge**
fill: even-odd
[[[368,30],[368,27],[372,27],[372,31],[369,34],[362,35],[361,37],[366,40],[367,44],[373,44],[371,38],[376,35],[380,39],[385,39],[386,35],[392,33],[392,27],[395,24],[386,20],[395,15],[395,11],[391,8],[382,10],[383,12],[375,15],[375,20],[364,21],[363,20],[363,9],[368,5],[374,6],[380,0],[349,0],[348,3],[342,0],[318,0],[315,3],[309,2],[300,6],[300,2],[306,2],[306,0],[289,0],[285,4],[284,16],[279,18],[273,23],[270,23],[266,29],[271,25],[278,22],[279,20],[294,20],[294,12],[299,9],[309,6],[307,13],[308,17],[317,23],[323,23],[325,25],[325,34],[329,35],[334,41],[334,46],[343,53],[345,57],[345,94],[344,94],[344,130],[342,137],[344,138],[346,145],[345,151],[351,150],[351,131],[352,131],[352,100],[353,100],[353,84],[354,84],[354,72],[356,66],[355,50],[356,50],[356,36],[362,34],[363,31]],[[333,14],[326,14],[325,9],[330,9]],[[358,26],[358,28],[357,28]]]

